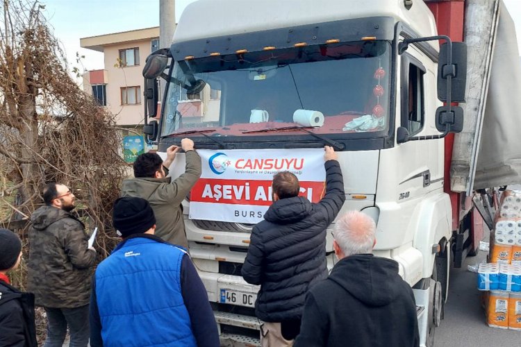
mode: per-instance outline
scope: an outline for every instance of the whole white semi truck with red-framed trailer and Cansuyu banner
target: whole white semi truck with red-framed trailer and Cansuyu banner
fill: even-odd
[[[508,166],[515,153],[500,155],[491,144],[487,121],[501,111],[484,116],[502,3],[425,2],[199,0],[181,15],[172,46],[147,58],[144,133],[160,152],[190,137],[203,158],[203,176],[183,202],[185,226],[224,345],[258,344],[258,287],[240,269],[251,228],[270,205],[272,174],[294,171],[301,194],[319,200],[327,144],[345,179],[342,211],[377,221],[374,254],[398,262],[415,293],[421,344],[432,346],[451,260],[461,266],[477,252],[481,214],[492,227],[488,197],[474,181],[486,188],[519,175]],[[466,26],[468,35],[482,29],[479,40],[463,37]],[[508,78],[518,75],[519,62]],[[167,81],[160,115],[158,76]],[[467,89],[472,100],[454,104]],[[513,132],[519,125],[511,123]],[[482,128],[493,135],[482,137]],[[480,167],[485,144],[490,158]],[[183,169],[176,160],[172,175]],[[329,230],[326,237],[333,266]]]

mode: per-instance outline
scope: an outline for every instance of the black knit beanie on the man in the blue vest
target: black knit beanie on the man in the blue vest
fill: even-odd
[[[129,237],[149,230],[156,224],[156,217],[144,198],[126,196],[114,203],[113,223],[117,235]]]

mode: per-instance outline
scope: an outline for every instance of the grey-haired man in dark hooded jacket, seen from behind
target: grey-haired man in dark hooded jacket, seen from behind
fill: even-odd
[[[374,220],[350,211],[333,229],[339,262],[308,291],[295,346],[418,346],[415,300],[398,263],[372,255]]]

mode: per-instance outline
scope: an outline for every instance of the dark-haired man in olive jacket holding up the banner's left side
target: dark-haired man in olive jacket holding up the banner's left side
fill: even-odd
[[[201,177],[201,158],[191,139],[182,139],[181,148],[185,151],[186,161],[183,174],[175,179],[167,177],[168,169],[180,149],[178,146],[167,148],[165,162],[157,153],[143,153],[133,165],[135,178],[123,181],[122,196],[146,199],[156,215],[156,235],[188,250],[181,203]]]

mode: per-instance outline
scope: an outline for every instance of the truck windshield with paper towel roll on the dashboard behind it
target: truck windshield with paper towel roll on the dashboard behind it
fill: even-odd
[[[389,51],[389,42],[373,40],[175,62],[161,136],[283,141],[291,130],[302,135],[299,127],[377,136],[389,124]]]

